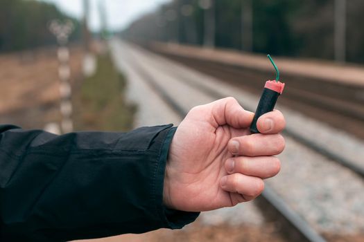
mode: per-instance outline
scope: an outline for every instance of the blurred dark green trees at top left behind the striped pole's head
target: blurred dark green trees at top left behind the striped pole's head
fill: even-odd
[[[56,44],[49,31],[53,19],[71,19],[75,30],[71,40],[80,38],[80,24],[53,4],[35,0],[0,0],[0,53]]]

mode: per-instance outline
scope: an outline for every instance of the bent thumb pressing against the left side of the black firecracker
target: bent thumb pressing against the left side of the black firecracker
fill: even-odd
[[[207,106],[211,108],[216,127],[229,124],[236,129],[248,128],[254,118],[254,113],[244,110],[234,97],[226,97]]]

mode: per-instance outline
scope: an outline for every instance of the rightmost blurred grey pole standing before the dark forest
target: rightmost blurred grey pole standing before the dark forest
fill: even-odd
[[[335,0],[335,60],[346,61],[346,0]]]

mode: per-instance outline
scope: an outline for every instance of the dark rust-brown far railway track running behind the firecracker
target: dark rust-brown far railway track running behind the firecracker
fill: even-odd
[[[272,77],[272,73],[266,71],[155,51],[252,93],[260,94],[262,80]],[[282,80],[286,80],[287,86],[284,95],[280,97],[281,104],[364,139],[364,100],[361,96],[364,93],[363,87],[307,80],[292,75],[283,75]]]

